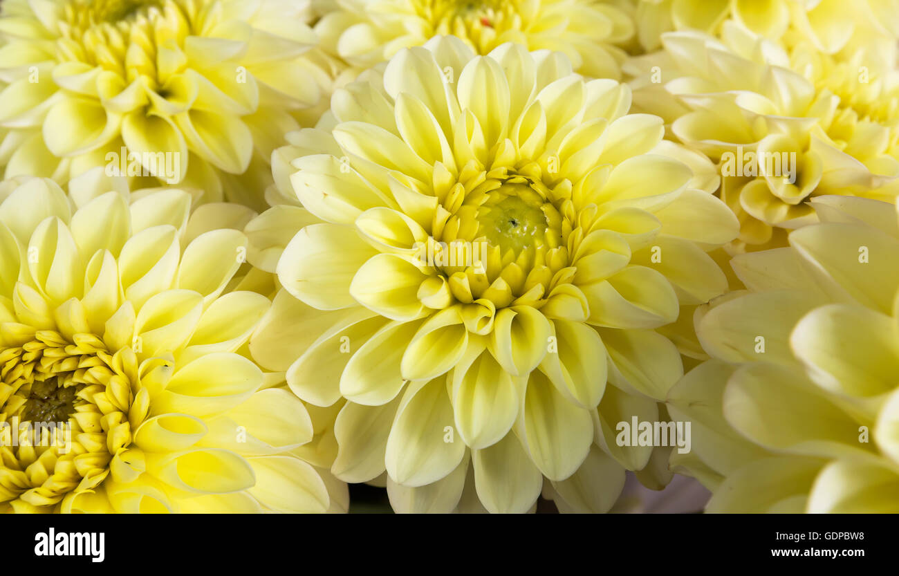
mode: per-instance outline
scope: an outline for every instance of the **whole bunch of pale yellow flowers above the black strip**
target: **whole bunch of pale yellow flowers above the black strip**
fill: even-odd
[[[0,511],[899,511],[847,4],[2,0]]]

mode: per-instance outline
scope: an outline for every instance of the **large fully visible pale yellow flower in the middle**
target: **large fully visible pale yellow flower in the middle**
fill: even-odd
[[[616,424],[660,418],[682,367],[654,329],[725,290],[705,250],[737,223],[629,105],[561,53],[445,37],[290,135],[275,173],[305,208],[246,228],[284,287],[250,349],[346,399],[339,478],[386,470],[396,510],[525,511],[544,478],[561,510],[608,510],[652,467]]]

